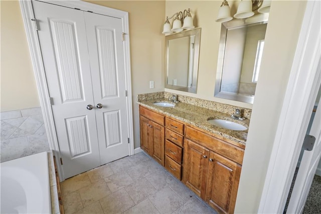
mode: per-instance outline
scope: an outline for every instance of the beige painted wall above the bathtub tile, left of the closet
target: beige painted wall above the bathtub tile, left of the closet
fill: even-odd
[[[40,106],[18,1],[1,4],[0,112]]]

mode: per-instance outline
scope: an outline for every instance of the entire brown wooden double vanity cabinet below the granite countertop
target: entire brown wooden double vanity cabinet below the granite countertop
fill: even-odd
[[[245,146],[142,106],[139,111],[141,148],[215,210],[233,213]]]

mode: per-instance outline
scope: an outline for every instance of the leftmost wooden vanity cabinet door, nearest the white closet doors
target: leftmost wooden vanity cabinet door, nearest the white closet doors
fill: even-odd
[[[153,153],[153,132],[149,120],[140,116],[140,147],[148,155],[152,156]]]

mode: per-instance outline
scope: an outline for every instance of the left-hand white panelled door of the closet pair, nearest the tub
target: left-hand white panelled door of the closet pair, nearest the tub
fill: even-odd
[[[100,165],[95,110],[86,109],[94,99],[84,12],[37,1],[33,7],[68,178]]]

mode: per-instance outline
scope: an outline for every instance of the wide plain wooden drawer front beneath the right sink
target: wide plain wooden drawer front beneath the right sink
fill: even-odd
[[[193,140],[202,146],[242,165],[244,150],[232,144],[228,144],[204,132],[186,126],[186,138]]]

